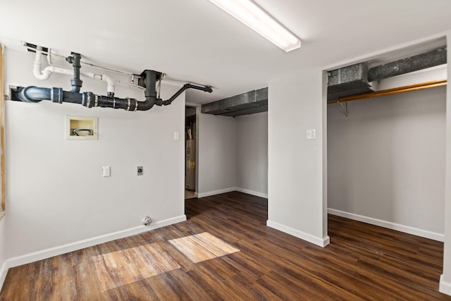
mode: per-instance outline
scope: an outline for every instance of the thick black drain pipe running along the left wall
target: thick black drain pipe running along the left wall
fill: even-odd
[[[71,80],[72,90],[63,91],[63,88],[53,87],[17,87],[11,90],[11,99],[20,100],[22,102],[41,102],[42,100],[51,100],[61,104],[63,102],[70,102],[74,104],[82,104],[88,108],[102,107],[113,109],[125,109],[127,111],[147,111],[156,106],[167,106],[173,102],[183,91],[187,89],[202,90],[204,92],[211,93],[211,87],[197,86],[192,84],[185,84],[178,90],[170,99],[164,100],[156,97],[156,81],[161,79],[162,73],[154,70],[144,70],[140,75],[138,85],[144,87],[144,102],[138,102],[134,98],[118,98],[113,94],[108,96],[97,95],[92,92],[80,93],[82,87],[82,80],[80,80],[80,54],[72,53],[67,61],[73,64],[74,78]]]

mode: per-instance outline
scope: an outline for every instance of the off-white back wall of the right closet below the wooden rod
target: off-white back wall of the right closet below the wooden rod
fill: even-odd
[[[348,110],[328,106],[329,209],[443,240],[445,87],[350,102]]]

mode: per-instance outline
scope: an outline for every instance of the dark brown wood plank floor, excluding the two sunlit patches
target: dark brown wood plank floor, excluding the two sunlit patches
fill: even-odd
[[[329,216],[330,245],[265,226],[266,199],[186,202],[188,220],[10,269],[0,300],[451,300],[438,293],[443,243]],[[193,263],[168,240],[209,232],[240,250]],[[101,291],[93,257],[159,242],[179,269]]]

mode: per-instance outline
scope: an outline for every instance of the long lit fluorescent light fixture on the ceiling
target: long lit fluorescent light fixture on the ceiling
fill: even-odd
[[[209,0],[285,52],[301,47],[301,39],[252,0]]]

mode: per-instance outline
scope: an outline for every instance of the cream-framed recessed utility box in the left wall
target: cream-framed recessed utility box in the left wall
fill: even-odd
[[[97,117],[66,116],[66,140],[98,140]]]

